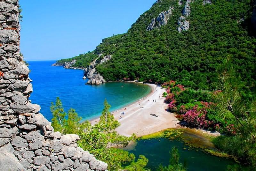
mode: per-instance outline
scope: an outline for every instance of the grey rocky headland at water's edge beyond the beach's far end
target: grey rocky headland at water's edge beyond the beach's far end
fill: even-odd
[[[100,73],[98,73],[95,69],[96,65],[98,64],[102,64],[105,63],[107,61],[109,61],[111,59],[111,56],[103,56],[101,59],[101,54],[98,56],[97,59],[93,60],[90,65],[84,69],[84,75],[87,76],[88,80],[86,84],[95,84],[95,85],[99,85],[102,83],[106,83],[106,81],[104,80],[104,78],[100,75]],[[101,60],[99,60],[101,59]]]

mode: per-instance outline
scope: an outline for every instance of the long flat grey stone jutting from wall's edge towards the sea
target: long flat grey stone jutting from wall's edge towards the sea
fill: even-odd
[[[11,103],[11,109],[19,114],[24,113],[37,113],[41,110],[41,107],[37,104],[27,103],[25,105]]]

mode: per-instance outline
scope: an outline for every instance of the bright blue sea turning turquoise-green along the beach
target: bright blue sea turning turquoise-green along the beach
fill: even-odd
[[[51,66],[55,61],[31,61],[29,77],[33,80],[32,103],[41,106],[41,113],[52,119],[51,102],[60,97],[65,111],[74,108],[83,119],[100,116],[105,98],[111,111],[122,108],[150,93],[148,85],[110,82],[103,85],[85,85],[82,70]]]

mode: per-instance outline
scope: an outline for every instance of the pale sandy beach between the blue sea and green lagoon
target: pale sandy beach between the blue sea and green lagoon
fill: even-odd
[[[165,89],[159,85],[149,84],[149,86],[152,92],[148,96],[112,113],[121,123],[121,126],[116,129],[120,135],[130,136],[135,133],[140,137],[167,128],[178,127],[178,120],[172,113],[166,111],[167,104],[164,103],[164,97],[162,97]],[[123,112],[124,115],[121,115]],[[150,114],[156,114],[158,117]],[[95,124],[98,121],[99,119],[95,119],[91,123]]]

